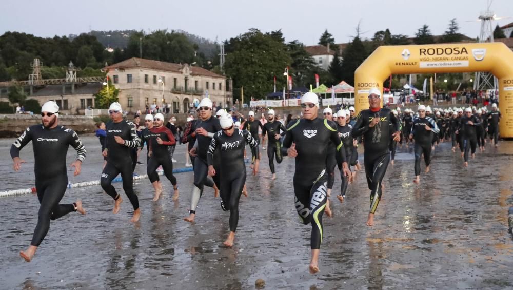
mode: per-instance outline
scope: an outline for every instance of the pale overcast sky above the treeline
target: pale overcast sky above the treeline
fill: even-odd
[[[451,18],[461,32],[479,35],[476,20],[486,10],[487,0],[325,0],[325,1],[132,1],[132,0],[2,0],[0,34],[19,31],[52,37],[90,30],[182,29],[210,40],[225,40],[249,28],[282,29],[287,41],[297,39],[314,45],[324,29],[337,43],[348,42],[361,23],[362,36],[378,30],[392,34],[414,33],[423,24],[435,35],[442,34]],[[51,4],[50,4],[51,3]],[[497,16],[513,17],[513,0],[494,0]],[[502,26],[513,18],[499,20]],[[494,23],[495,27],[495,23]]]

